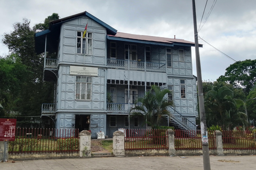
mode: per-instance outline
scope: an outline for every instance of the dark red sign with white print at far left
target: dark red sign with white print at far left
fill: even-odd
[[[15,128],[15,118],[0,118],[0,141],[14,141]]]

